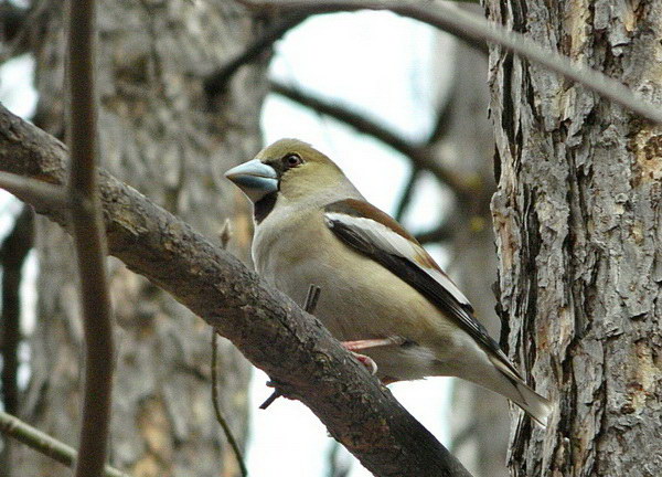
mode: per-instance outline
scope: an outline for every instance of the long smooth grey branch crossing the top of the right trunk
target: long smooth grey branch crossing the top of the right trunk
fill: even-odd
[[[399,15],[409,17],[446,31],[463,40],[472,47],[480,49],[479,44],[485,41],[500,45],[533,63],[537,63],[568,80],[573,80],[601,97],[610,99],[613,103],[637,113],[642,118],[655,124],[662,124],[662,109],[634,95],[622,83],[619,83],[587,65],[573,63],[567,56],[563,56],[549,49],[543,47],[521,33],[509,31],[505,28],[488,22],[485,19],[476,14],[441,3],[420,4],[365,0],[244,1],[243,3],[256,9],[277,8],[282,13],[287,13],[288,11],[307,11],[309,14],[314,14],[337,11],[389,10]]]

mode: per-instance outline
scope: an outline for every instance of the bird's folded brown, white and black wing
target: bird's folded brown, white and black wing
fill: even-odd
[[[482,348],[519,375],[473,308],[433,257],[395,220],[367,202],[346,199],[324,208],[324,220],[345,244],[371,257],[424,295]]]

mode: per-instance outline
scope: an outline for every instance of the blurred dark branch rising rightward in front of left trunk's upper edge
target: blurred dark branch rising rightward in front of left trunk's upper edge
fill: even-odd
[[[257,59],[276,41],[301,23],[308,14],[292,13],[271,25],[257,40],[250,43],[242,53],[229,60],[204,81],[204,91],[210,96],[222,94],[232,76],[245,64]]]

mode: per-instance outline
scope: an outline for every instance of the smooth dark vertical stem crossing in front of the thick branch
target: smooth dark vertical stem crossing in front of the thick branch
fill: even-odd
[[[96,169],[95,18],[95,0],[71,0],[68,187],[85,335],[85,396],[76,477],[103,474],[113,391],[114,337],[105,267],[106,237]]]

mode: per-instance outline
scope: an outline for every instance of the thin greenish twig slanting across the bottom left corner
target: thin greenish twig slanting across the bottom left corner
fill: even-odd
[[[0,411],[0,432],[67,467],[73,467],[76,462],[76,449],[2,411]],[[103,475],[105,477],[130,477],[129,474],[108,465],[104,467]]]

